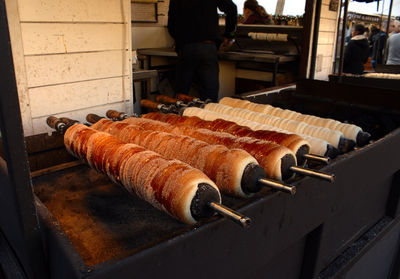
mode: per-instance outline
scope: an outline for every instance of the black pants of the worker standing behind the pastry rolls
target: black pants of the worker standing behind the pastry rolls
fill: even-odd
[[[210,43],[191,43],[178,50],[176,91],[188,94],[193,80],[198,81],[200,97],[217,101],[219,66],[217,47]]]

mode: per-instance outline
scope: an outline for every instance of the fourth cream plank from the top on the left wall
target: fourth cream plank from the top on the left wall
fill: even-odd
[[[125,83],[129,81],[125,77]],[[29,90],[32,117],[123,101],[123,78],[110,78]],[[127,96],[128,100],[130,96]]]

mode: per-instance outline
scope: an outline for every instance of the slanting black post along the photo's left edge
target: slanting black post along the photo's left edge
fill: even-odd
[[[47,278],[42,231],[34,202],[28,156],[21,122],[11,40],[5,1],[0,1],[0,129],[7,161],[12,195],[17,202],[19,230],[30,266],[24,266],[31,278]]]

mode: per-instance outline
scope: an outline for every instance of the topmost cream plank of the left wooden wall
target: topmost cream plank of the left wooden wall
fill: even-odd
[[[126,0],[124,0],[126,1]],[[120,0],[18,0],[23,22],[123,22]]]

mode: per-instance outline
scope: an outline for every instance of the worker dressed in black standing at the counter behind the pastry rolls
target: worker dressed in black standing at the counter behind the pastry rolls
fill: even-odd
[[[219,32],[218,9],[226,14],[223,38]],[[231,0],[171,0],[168,31],[175,40],[178,63],[176,93],[188,94],[194,79],[200,98],[218,99],[217,50],[232,46],[237,25],[237,7]]]

